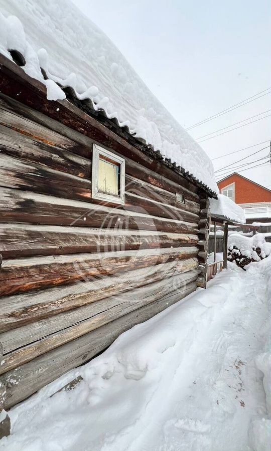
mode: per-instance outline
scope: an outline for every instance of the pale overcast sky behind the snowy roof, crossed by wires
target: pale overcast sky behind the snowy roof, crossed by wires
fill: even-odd
[[[269,0],[73,2],[107,34],[185,128],[271,87]],[[215,158],[270,140],[271,116],[261,119],[271,114],[268,110],[271,94],[189,133],[197,139],[262,113],[235,127],[260,119],[254,123],[202,142],[209,157]],[[216,159],[214,167],[224,167],[265,146],[268,142]],[[264,157],[268,151],[266,148],[238,164]],[[240,174],[271,188],[270,164]]]

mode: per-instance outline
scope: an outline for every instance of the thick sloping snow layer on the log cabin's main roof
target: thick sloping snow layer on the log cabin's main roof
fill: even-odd
[[[56,82],[73,88],[78,99],[90,99],[95,110],[104,110],[109,119],[116,118],[121,127],[218,192],[213,164],[203,149],[73,3],[0,0],[0,53],[11,59],[8,50],[24,56],[23,69],[47,86],[49,100],[65,98]]]

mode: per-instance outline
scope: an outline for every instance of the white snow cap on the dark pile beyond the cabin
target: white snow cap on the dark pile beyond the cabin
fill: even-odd
[[[256,253],[255,249],[260,248],[261,257],[264,259],[271,252],[271,243],[266,243],[264,234],[256,234],[252,237],[246,237],[242,234],[234,233],[228,237],[228,249],[234,251],[233,246],[236,246],[236,252],[240,251],[241,255],[259,262],[261,259]]]

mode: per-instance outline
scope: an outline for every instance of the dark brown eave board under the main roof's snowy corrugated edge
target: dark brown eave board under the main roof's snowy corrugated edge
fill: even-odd
[[[128,148],[130,152],[137,154],[137,158],[140,157],[140,154],[142,155],[142,153],[144,153],[147,158],[149,156],[162,166],[169,168],[176,175],[178,174],[193,184],[196,184],[196,186],[205,191],[209,197],[217,198],[217,194],[210,190],[204,183],[196,179],[193,174],[190,174],[184,168],[177,166],[177,164],[170,159],[165,159],[160,151],[155,151],[152,146],[147,145],[142,139],[132,136],[129,133],[128,127],[120,127],[114,119],[108,119],[102,109],[99,111],[93,109],[91,100],[78,100],[77,97],[74,97],[70,88],[64,87],[62,89],[65,92],[67,99],[58,101],[47,100],[46,86],[27,75],[20,66],[16,65],[2,54],[0,54],[0,70],[2,74],[2,77],[0,78],[0,91],[3,94],[28,105],[30,108],[41,111],[56,120],[61,120],[61,112],[66,116],[73,116],[75,118],[74,124],[72,125],[71,121],[67,118],[67,122],[69,123],[66,123],[66,125],[83,134],[87,134],[85,128],[87,128],[88,123],[91,123],[91,125],[97,129],[97,136],[99,133],[104,136],[106,128],[107,140],[109,142],[117,141],[118,146],[122,144],[123,147],[126,149]],[[45,76],[46,74],[44,73],[44,77]],[[11,82],[14,83],[14,86],[11,86]],[[22,85],[24,86],[24,89],[21,89]],[[33,98],[33,95],[30,95],[30,92],[32,92],[32,94],[35,93],[36,99]],[[57,108],[59,108],[59,111],[57,111]],[[94,119],[95,123],[91,119]],[[85,127],[82,126],[82,121],[85,123]],[[97,141],[99,141],[98,138]],[[108,146],[110,147],[110,145]],[[136,161],[136,157],[133,159]]]

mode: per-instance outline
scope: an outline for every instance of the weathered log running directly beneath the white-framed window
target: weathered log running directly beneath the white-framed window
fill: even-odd
[[[97,208],[95,199],[89,202],[74,199],[67,200],[52,195],[38,194],[19,189],[0,187],[0,221],[7,220],[29,221],[31,223],[50,224],[54,220],[55,225],[86,225],[88,216]],[[99,205],[99,207],[101,207]],[[110,204],[105,205],[110,208]],[[193,212],[181,208],[166,205],[155,200],[141,197],[132,193],[125,193],[124,205],[112,205],[112,213],[117,214],[122,210],[151,214],[153,216],[170,218],[173,220],[186,220],[196,223],[199,216]],[[97,208],[99,211],[99,208]],[[127,213],[126,213],[127,214]],[[86,218],[84,220],[84,217]],[[84,221],[84,222],[83,222]]]

